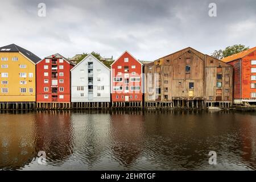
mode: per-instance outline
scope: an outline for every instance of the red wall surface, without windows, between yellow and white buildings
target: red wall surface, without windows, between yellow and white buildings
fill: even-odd
[[[48,65],[48,69],[44,69],[44,65]],[[52,78],[52,65],[57,65],[57,78]],[[59,69],[59,65],[63,65],[64,69]],[[63,63],[52,64],[51,59],[49,63],[46,63],[46,59],[36,64],[36,102],[71,102],[71,73],[70,70],[73,65],[63,60]],[[44,76],[44,72],[48,72],[48,76]],[[59,76],[59,73],[63,72],[64,76]],[[48,79],[48,84],[44,83],[44,79]],[[63,84],[60,84],[60,79],[64,80]],[[52,80],[57,80],[57,93],[52,94]],[[48,92],[44,92],[44,87],[48,87]],[[64,87],[64,92],[60,92],[59,88]],[[48,95],[48,99],[44,98],[44,95]],[[57,100],[52,101],[52,95],[57,95]],[[60,99],[59,96],[63,95],[64,98]]]

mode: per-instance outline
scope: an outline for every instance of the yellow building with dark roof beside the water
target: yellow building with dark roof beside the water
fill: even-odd
[[[40,58],[10,44],[0,47],[0,102],[36,101],[36,62]]]

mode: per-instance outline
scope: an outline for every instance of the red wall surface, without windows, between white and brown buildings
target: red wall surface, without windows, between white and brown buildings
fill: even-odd
[[[125,63],[125,58],[129,59],[128,63]],[[135,65],[135,68],[131,68],[132,65]],[[121,66],[121,69],[118,69],[118,66]],[[125,72],[125,66],[129,67],[129,72]],[[118,72],[121,72],[121,75],[118,75]],[[135,72],[135,75],[132,75],[132,72]],[[125,84],[125,73],[129,74],[129,84]],[[124,102],[125,96],[129,96],[130,102],[141,102],[142,101],[142,64],[139,63],[130,53],[125,52],[118,60],[114,62],[111,69],[112,75],[112,101],[113,102]],[[122,82],[114,82],[114,77],[122,77]],[[141,81],[131,82],[130,77],[140,77]],[[123,90],[115,91],[114,86],[122,86]],[[125,92],[125,86],[129,86],[129,93]],[[131,86],[141,86],[141,90],[132,91],[130,90]],[[117,98],[118,96],[118,98]],[[135,98],[137,96],[137,98]],[[131,97],[131,98],[130,98]]]

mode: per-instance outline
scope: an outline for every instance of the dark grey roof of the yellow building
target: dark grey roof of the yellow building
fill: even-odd
[[[34,63],[38,63],[38,61],[41,60],[40,57],[36,56],[34,53],[15,44],[0,47],[0,52],[20,52]]]

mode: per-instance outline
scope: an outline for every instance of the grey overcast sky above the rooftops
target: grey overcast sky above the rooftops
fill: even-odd
[[[38,4],[46,4],[46,17]],[[209,3],[217,17],[208,15]],[[0,2],[0,47],[15,43],[43,58],[96,51],[155,60],[185,47],[210,54],[256,46],[256,1],[53,0]]]

